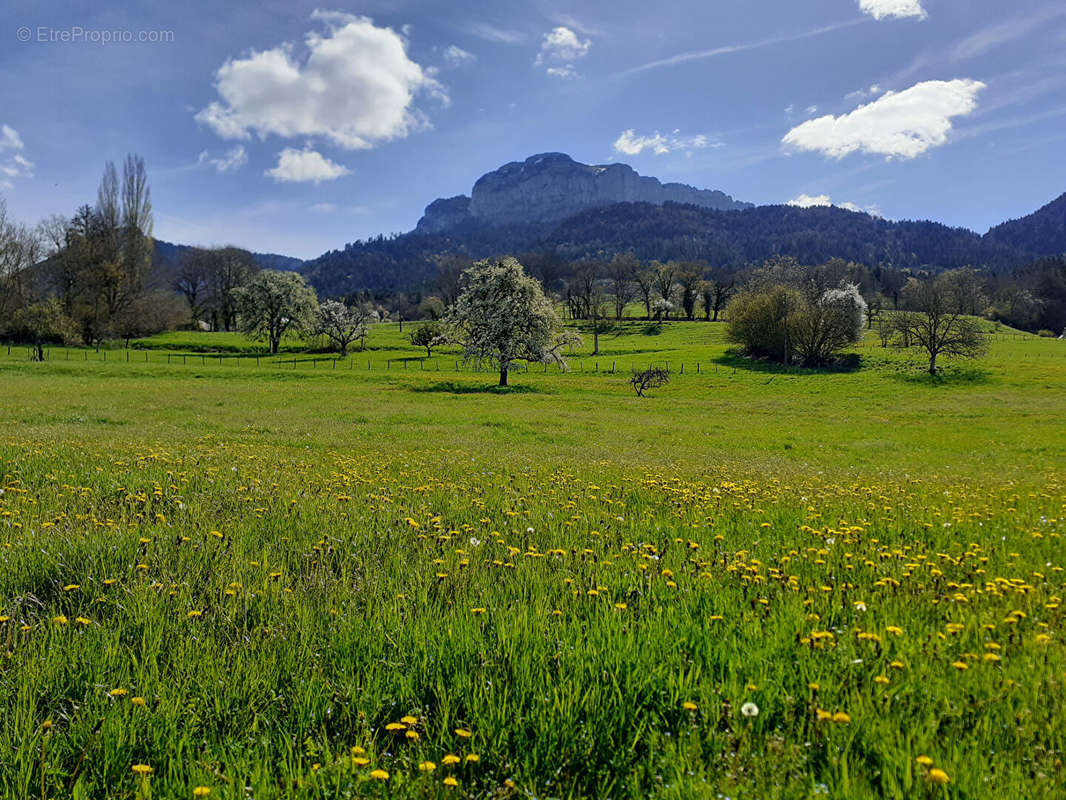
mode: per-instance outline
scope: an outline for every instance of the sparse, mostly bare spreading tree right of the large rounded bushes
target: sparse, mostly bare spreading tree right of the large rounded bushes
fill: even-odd
[[[904,287],[910,314],[897,318],[900,333],[912,339],[930,358],[928,372],[937,374],[940,356],[975,358],[988,349],[981,323],[963,314],[965,301],[957,294],[958,284],[950,273]]]

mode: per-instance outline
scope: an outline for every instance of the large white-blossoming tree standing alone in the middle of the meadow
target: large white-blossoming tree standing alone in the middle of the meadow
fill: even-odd
[[[572,335],[562,330],[540,284],[517,259],[478,261],[463,273],[462,293],[449,310],[451,336],[467,357],[488,358],[507,385],[516,359],[565,364],[560,351]]]

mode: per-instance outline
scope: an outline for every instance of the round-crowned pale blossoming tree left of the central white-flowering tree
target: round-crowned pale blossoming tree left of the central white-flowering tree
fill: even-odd
[[[298,273],[263,270],[233,295],[240,330],[266,339],[271,353],[277,353],[287,333],[313,329],[318,300]]]

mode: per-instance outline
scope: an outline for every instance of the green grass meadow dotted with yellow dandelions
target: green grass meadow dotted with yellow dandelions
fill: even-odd
[[[0,797],[1066,795],[1066,342],[141,345],[0,353]]]

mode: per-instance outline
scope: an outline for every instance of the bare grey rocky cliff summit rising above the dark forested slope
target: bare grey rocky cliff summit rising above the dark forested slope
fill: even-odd
[[[464,202],[466,211],[463,211]],[[615,203],[688,203],[720,210],[752,208],[718,191],[661,183],[626,164],[582,164],[562,153],[532,156],[482,176],[471,196],[436,201],[419,231],[435,231],[474,220],[487,225],[551,223]]]

